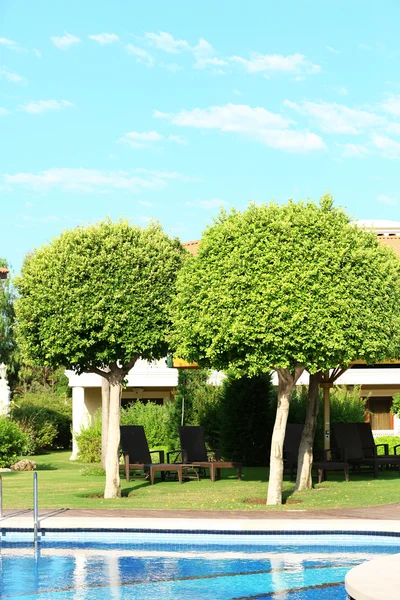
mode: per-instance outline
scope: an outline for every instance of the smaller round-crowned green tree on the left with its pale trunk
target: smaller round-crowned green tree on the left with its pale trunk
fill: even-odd
[[[17,281],[19,337],[36,364],[97,373],[110,384],[105,498],[120,496],[120,398],[138,358],[167,353],[169,305],[186,251],[161,227],[108,220],[67,230],[26,257]]]

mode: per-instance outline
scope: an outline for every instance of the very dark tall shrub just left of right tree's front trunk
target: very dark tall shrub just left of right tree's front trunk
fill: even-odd
[[[267,465],[274,396],[270,375],[227,377],[221,389],[221,451],[245,465]]]

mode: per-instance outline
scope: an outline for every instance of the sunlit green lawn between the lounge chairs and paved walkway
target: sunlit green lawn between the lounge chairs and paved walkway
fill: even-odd
[[[38,464],[40,508],[158,508],[196,510],[265,510],[265,504],[251,503],[267,495],[267,469],[245,468],[241,482],[235,471],[223,471],[223,479],[212,484],[188,480],[159,482],[154,486],[144,479],[128,484],[121,479],[123,498],[104,500],[104,476],[81,473],[83,463],[69,460],[70,452],[32,457]],[[398,471],[384,472],[374,480],[372,474],[353,475],[346,483],[343,473],[329,474],[329,481],[314,490],[293,493],[293,483],[284,482],[283,509],[327,509],[391,504],[400,498]],[[4,508],[32,507],[32,472],[3,473]],[[250,501],[250,503],[249,503]],[[275,507],[268,507],[274,510]]]

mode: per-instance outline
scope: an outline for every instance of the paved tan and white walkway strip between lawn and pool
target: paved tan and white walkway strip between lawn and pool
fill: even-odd
[[[400,504],[332,510],[193,511],[48,509],[39,512],[47,529],[145,529],[184,531],[381,531],[400,534]],[[0,531],[33,529],[31,510],[7,510]]]

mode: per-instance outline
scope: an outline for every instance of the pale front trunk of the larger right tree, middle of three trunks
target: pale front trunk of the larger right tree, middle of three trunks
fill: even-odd
[[[286,423],[289,414],[290,395],[303,371],[304,367],[296,367],[294,374],[289,369],[277,369],[279,380],[278,405],[271,442],[268,505],[282,504],[283,442],[285,440]]]

